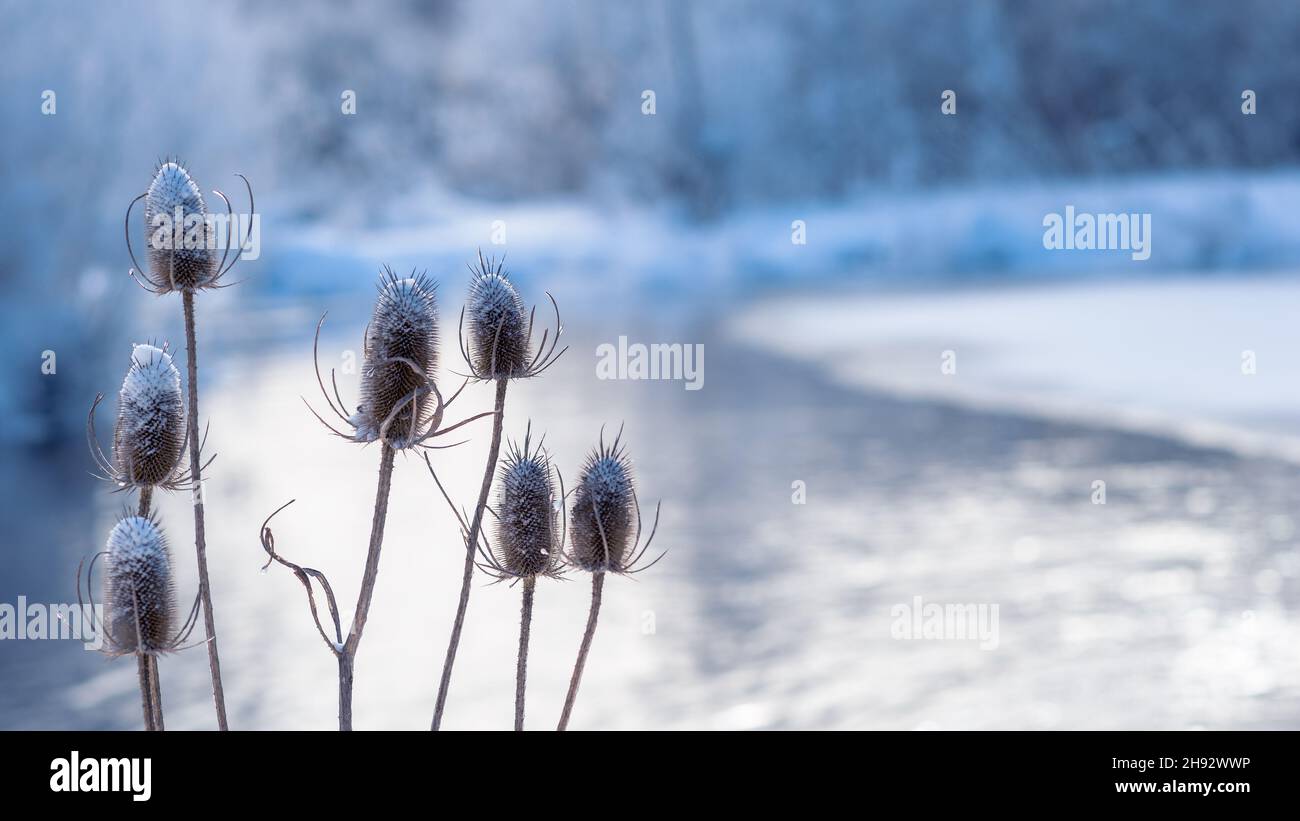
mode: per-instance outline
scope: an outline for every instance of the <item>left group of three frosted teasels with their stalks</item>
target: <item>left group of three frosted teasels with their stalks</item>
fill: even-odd
[[[239,175],[248,191],[250,218],[254,213],[252,187]],[[109,535],[108,548],[96,553],[87,570],[87,594],[94,604],[91,574],[95,560],[105,557],[105,616],[101,630],[112,655],[134,653],[138,659],[140,701],[146,729],[164,729],[159,656],[181,650],[203,613],[212,677],[212,700],[220,730],[229,729],[225,688],[221,683],[221,660],[217,652],[216,617],[212,608],[212,586],[208,574],[207,529],[203,509],[203,443],[199,436],[199,365],[195,333],[195,295],[208,288],[225,287],[221,279],[243,255],[230,259],[231,239],[237,225],[229,197],[213,191],[226,204],[230,222],[225,251],[216,253],[214,222],[199,186],[178,161],[160,162],[148,190],[131,200],[126,209],[126,248],[131,257],[130,275],[155,295],[179,292],[186,338],[186,396],[182,399],[179,374],[166,346],[136,346],[131,366],[118,399],[112,456],[105,456],[95,435],[95,409],[103,400],[96,396],[87,420],[91,453],[103,478],[117,490],[139,491],[134,517],[124,516]],[[135,204],[144,200],[144,223],[150,234],[150,265],[135,259],[131,248],[130,222]],[[179,225],[176,223],[179,221]],[[182,470],[185,451],[188,469]],[[211,464],[211,460],[209,460]],[[190,490],[194,507],[194,544],[199,572],[199,592],[190,617],[174,630],[174,595],[172,560],[166,539],[151,509],[153,490]],[[77,582],[81,599],[81,568]]]

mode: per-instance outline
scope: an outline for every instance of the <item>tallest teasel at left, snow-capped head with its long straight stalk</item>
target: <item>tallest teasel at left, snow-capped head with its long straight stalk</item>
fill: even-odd
[[[254,212],[252,187],[244,181],[248,191],[250,218]],[[203,465],[200,464],[199,443],[199,364],[194,327],[194,295],[207,288],[226,287],[221,279],[242,256],[237,251],[230,255],[230,238],[234,236],[237,222],[229,197],[221,191],[213,191],[226,204],[230,218],[230,234],[225,251],[216,256],[217,235],[213,220],[208,214],[203,192],[190,173],[179,161],[168,160],[159,165],[153,182],[126,209],[126,248],[131,255],[134,268],[131,278],[151,294],[164,295],[178,291],[185,316],[186,378],[190,404],[190,483],[194,499],[194,549],[199,564],[199,596],[203,601],[203,626],[207,633],[208,668],[212,674],[212,701],[217,712],[217,727],[229,729],[226,721],[226,698],[221,685],[221,659],[217,652],[216,617],[212,612],[212,585],[208,578],[208,546],[203,516]],[[150,236],[150,269],[144,269],[131,249],[131,210],[135,203],[144,200],[144,230]]]

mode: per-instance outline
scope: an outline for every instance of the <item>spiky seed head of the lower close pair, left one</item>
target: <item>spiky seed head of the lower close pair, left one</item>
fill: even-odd
[[[552,575],[562,564],[563,546],[555,513],[555,483],[546,451],[512,444],[500,466],[497,564],[516,578]]]

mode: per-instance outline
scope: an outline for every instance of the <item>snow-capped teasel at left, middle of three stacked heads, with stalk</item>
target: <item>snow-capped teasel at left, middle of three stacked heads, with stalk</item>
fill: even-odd
[[[105,456],[95,435],[95,409],[104,395],[96,395],[86,420],[86,436],[100,478],[118,491],[139,491],[136,516],[148,518],[153,488],[182,490],[190,474],[182,470],[187,439],[181,374],[166,344],[136,344],[122,379],[113,426],[112,457]],[[170,565],[170,561],[168,561]],[[79,587],[79,586],[78,586]],[[156,655],[138,652],[146,729],[162,729],[162,694]]]

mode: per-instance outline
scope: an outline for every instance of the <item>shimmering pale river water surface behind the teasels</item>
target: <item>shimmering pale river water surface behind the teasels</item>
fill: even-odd
[[[324,361],[358,349],[352,320],[326,335]],[[595,344],[612,336],[589,336],[510,391],[507,435],[532,418],[571,483],[601,425],[625,422],[647,514],[663,499],[656,544],[668,557],[607,582],[575,727],[1300,726],[1300,468],[858,392],[707,326],[679,338],[706,346],[703,390],[598,381]],[[334,659],[299,583],[280,566],[260,572],[257,542],[263,518],[298,499],[276,521],[277,546],[324,570],[350,617],[378,451],[332,438],[303,408],[299,395],[321,407],[308,352],[300,338],[246,346],[204,385],[233,727],[337,726]],[[344,399],[355,381],[341,378]],[[489,387],[471,387],[455,417],[489,401]],[[488,431],[477,423],[471,443],[434,453],[467,507]],[[5,465],[0,600],[72,595],[77,560],[99,549],[126,501],[84,477],[88,466],[79,444]],[[161,513],[185,599],[195,590],[186,499],[164,499]],[[428,726],[460,562],[424,462],[399,457],[358,659],[358,727]],[[511,722],[519,591],[485,581],[447,727]],[[588,587],[581,575],[538,586],[530,727],[558,718]],[[996,604],[997,647],[892,638],[893,608],[915,596]],[[203,650],[161,669],[168,726],[212,727]],[[72,642],[0,643],[0,726],[139,720],[130,661]]]

